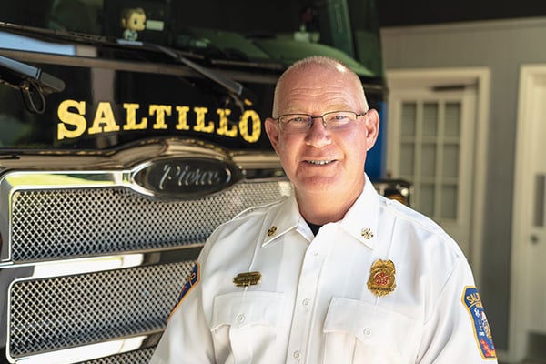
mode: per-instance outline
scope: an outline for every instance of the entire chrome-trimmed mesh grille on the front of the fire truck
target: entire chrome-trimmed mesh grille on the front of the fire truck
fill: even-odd
[[[0,297],[8,298],[7,319],[0,319],[7,325],[0,329],[7,332],[6,352],[18,362],[116,339],[157,337],[200,244],[241,210],[286,195],[289,185],[245,180],[216,195],[186,200],[147,197],[125,186],[9,188],[11,195],[4,188],[0,196],[10,196],[10,214],[2,221],[9,246],[3,254],[9,252],[10,264],[0,263],[0,273],[5,270],[13,280],[0,285],[6,289]],[[80,259],[93,263],[131,254],[148,259],[122,268],[35,273]],[[154,255],[161,258],[150,260]],[[154,345],[118,355],[90,349],[85,359],[73,362],[144,364]]]

